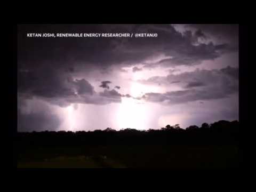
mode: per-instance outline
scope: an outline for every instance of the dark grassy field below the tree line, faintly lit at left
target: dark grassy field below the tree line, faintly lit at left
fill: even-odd
[[[238,167],[235,145],[111,145],[39,148],[20,152],[20,168],[167,168],[229,169]]]

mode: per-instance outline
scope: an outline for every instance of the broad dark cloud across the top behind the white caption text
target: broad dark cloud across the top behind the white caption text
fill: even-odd
[[[194,26],[197,27],[197,26]],[[193,35],[204,37],[205,28]],[[27,38],[28,31],[37,33],[157,33],[157,38]],[[188,33],[192,33],[191,31]],[[228,38],[228,37],[226,37]],[[193,45],[189,35],[183,35],[171,25],[19,25],[18,60],[20,67],[109,68],[143,62],[151,55],[162,53],[173,57],[165,65],[191,65],[220,57],[210,43]],[[97,51],[95,51],[97,50]],[[49,61],[49,62],[48,62]],[[159,62],[161,64],[163,62]]]

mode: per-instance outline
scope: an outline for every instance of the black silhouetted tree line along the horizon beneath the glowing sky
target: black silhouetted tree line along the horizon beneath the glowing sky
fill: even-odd
[[[35,127],[36,129],[36,127]],[[115,144],[215,144],[238,143],[239,122],[218,121],[203,123],[200,127],[191,125],[181,129],[179,124],[166,125],[161,129],[105,130],[94,131],[42,131],[18,132],[17,144],[20,146],[81,146]]]

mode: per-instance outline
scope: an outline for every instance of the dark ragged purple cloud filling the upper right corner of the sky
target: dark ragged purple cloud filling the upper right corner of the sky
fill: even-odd
[[[183,34],[180,33],[181,37],[177,35],[177,45],[172,42],[165,47],[164,53],[172,58],[150,63],[145,67],[198,65],[203,60],[214,60],[223,53],[238,51],[238,25],[187,26],[194,28],[195,32],[188,28]],[[220,41],[216,42],[215,39]]]

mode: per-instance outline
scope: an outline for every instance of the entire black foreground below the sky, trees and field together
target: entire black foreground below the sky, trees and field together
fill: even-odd
[[[234,169],[242,161],[237,122],[221,129],[19,133],[16,144],[17,166],[25,168]]]

